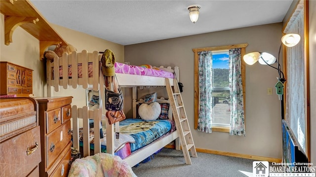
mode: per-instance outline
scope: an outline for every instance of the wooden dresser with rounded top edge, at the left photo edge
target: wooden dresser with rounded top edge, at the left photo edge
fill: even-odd
[[[38,102],[0,98],[0,177],[39,177]]]

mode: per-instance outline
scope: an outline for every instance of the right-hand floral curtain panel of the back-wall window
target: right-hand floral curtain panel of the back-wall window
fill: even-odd
[[[229,82],[231,95],[230,135],[245,135],[240,52],[240,48],[229,50]]]

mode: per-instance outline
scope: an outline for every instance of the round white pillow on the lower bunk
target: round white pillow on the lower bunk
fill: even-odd
[[[138,108],[139,116],[144,120],[156,120],[161,113],[161,107],[158,102],[151,104],[143,103]]]

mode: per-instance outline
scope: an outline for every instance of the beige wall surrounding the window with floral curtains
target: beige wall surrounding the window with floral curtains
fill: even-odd
[[[193,24],[194,25],[194,24]],[[246,136],[211,134],[194,129],[194,53],[192,49],[248,43],[246,52],[269,52],[277,57],[282,24],[232,29],[125,46],[131,64],[179,66],[182,97],[197,148],[281,158],[280,101],[275,93],[277,70],[258,62],[246,66]],[[273,88],[273,95],[267,95]]]

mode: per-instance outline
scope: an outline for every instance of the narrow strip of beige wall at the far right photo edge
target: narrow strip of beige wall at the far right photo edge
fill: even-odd
[[[309,1],[311,162],[316,164],[316,1]]]

